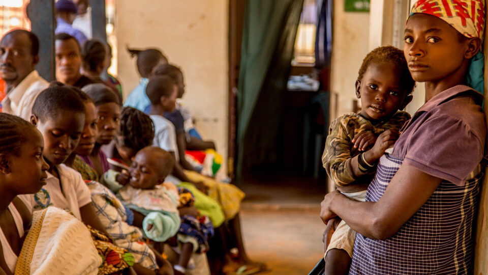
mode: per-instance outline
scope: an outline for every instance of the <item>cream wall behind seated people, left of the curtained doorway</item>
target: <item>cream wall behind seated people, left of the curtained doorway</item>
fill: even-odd
[[[116,1],[117,72],[127,94],[138,84],[127,46],[158,47],[184,72],[183,104],[204,139],[227,155],[228,0]],[[224,165],[226,161],[224,161]]]

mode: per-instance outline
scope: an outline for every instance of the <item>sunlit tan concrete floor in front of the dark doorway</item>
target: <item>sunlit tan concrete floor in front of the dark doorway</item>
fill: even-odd
[[[265,273],[308,274],[323,257],[318,211],[242,210],[241,218],[248,254],[267,264]]]

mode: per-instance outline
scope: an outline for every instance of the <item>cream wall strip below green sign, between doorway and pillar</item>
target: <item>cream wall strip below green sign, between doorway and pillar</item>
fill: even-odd
[[[368,53],[370,14],[344,12],[344,0],[334,1],[330,86],[337,93],[337,109],[332,97],[331,117],[352,112],[356,98],[354,83],[359,66]]]

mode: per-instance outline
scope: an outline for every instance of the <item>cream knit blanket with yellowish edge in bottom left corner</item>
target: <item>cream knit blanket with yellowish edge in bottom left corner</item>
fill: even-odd
[[[15,274],[97,274],[101,264],[85,225],[51,206],[34,212]]]

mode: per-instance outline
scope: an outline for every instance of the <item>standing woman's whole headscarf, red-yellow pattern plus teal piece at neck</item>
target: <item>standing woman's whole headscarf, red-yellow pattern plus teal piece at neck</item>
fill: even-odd
[[[485,24],[484,0],[418,0],[409,17],[414,13],[425,13],[439,17],[462,35],[483,41]],[[467,74],[468,86],[483,93],[484,56],[478,53],[471,59]]]

